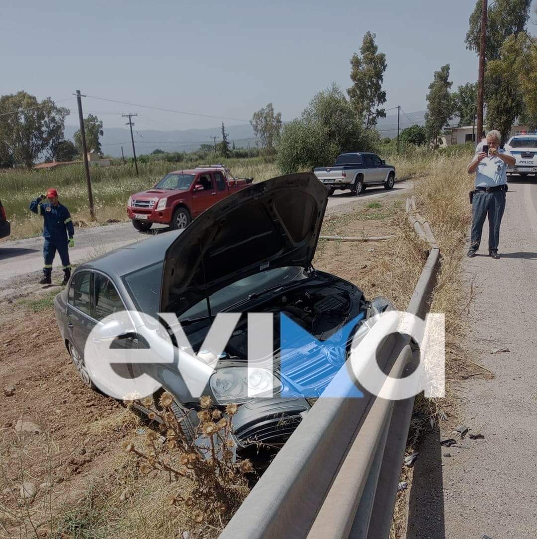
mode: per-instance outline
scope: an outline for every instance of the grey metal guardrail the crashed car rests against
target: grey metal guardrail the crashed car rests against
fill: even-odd
[[[411,314],[428,311],[439,254],[434,241],[407,307]],[[396,378],[410,372],[414,360],[410,337],[400,334],[377,352],[379,367]],[[331,385],[350,396],[355,385],[345,369]],[[221,539],[389,537],[414,397],[393,401],[360,390],[363,398],[315,403]]]

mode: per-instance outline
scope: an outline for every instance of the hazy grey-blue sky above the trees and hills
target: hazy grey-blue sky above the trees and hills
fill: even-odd
[[[441,65],[451,64],[454,89],[477,79],[477,56],[464,44],[473,6],[473,0],[0,0],[0,94],[24,89],[59,101],[79,88],[88,96],[235,119],[224,120],[228,125],[273,102],[290,120],[333,81],[350,85],[349,59],[370,30],[387,57],[386,107],[414,112],[426,107]],[[535,25],[529,29],[537,33]],[[74,99],[61,105],[76,113]],[[105,128],[122,127],[125,112],[140,114],[137,129],[221,121],[89,97],[83,106]],[[66,123],[77,122],[72,114]]]

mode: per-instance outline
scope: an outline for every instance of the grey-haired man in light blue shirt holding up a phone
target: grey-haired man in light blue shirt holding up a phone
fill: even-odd
[[[476,172],[476,187],[472,200],[472,232],[469,257],[474,257],[481,243],[481,232],[488,215],[488,254],[498,259],[501,218],[505,210],[507,191],[507,165],[514,165],[515,158],[500,148],[500,132],[488,132],[488,151],[477,148],[476,155],[468,165],[468,174]]]

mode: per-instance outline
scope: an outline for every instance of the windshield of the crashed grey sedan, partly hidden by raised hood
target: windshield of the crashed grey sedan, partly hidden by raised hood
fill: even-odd
[[[137,308],[155,318],[160,306],[162,266],[163,262],[157,262],[123,277],[123,282],[125,282]],[[249,277],[233,282],[233,284],[212,294],[209,297],[211,310],[213,313],[218,313],[239,301],[247,299],[251,294],[263,293],[275,286],[286,285],[291,281],[303,278],[305,278],[304,271],[299,266],[267,269],[263,272],[249,275]],[[207,302],[202,300],[183,313],[180,320],[195,319],[206,315]]]

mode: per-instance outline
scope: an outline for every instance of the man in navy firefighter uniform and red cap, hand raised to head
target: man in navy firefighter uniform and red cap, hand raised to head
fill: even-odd
[[[42,202],[44,199],[47,200],[46,203]],[[46,196],[40,195],[30,203],[30,211],[43,217],[43,237],[45,238],[43,257],[45,258],[45,264],[43,265],[43,279],[39,281],[39,284],[52,284],[52,261],[56,251],[58,251],[64,270],[62,284],[66,285],[71,277],[71,264],[67,246],[74,247],[74,227],[69,210],[58,202],[58,191],[49,189]]]

